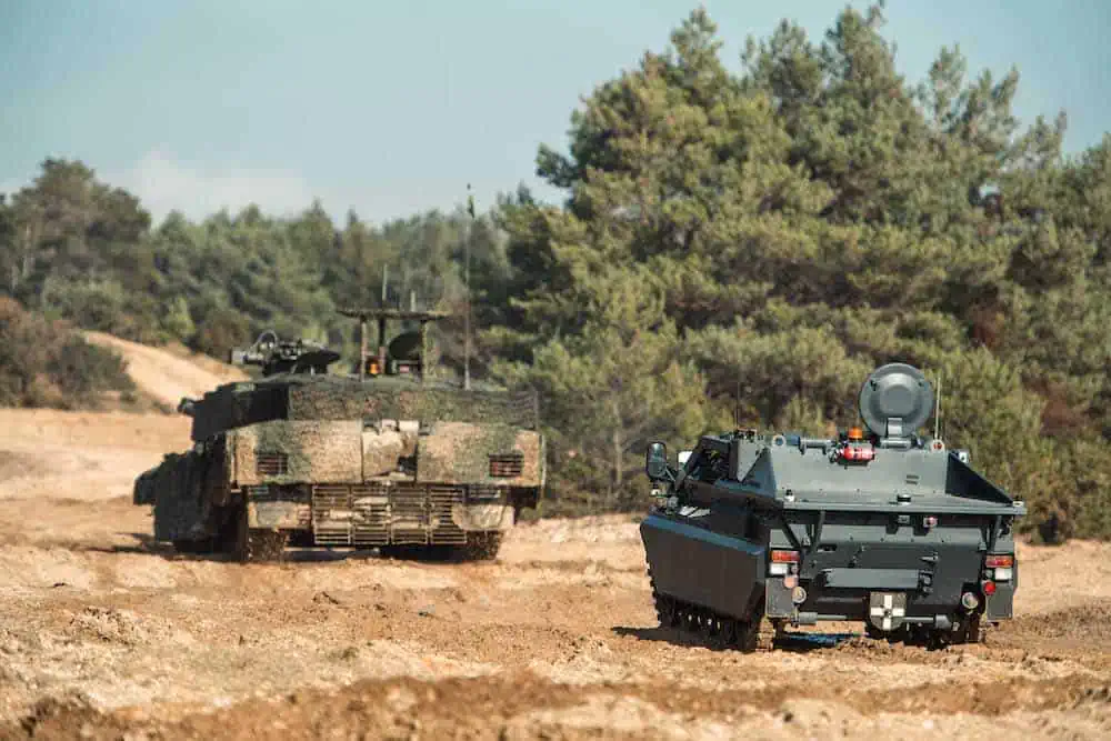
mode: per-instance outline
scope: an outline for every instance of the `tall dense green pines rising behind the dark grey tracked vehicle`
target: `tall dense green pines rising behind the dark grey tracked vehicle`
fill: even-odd
[[[698,10],[599,86],[568,153],[538,154],[565,207],[502,209],[522,280],[491,340],[533,381],[604,387],[577,366],[607,367],[590,341],[611,309],[593,297],[647,270],[653,321],[678,331],[667,357],[703,379],[685,397],[704,429],[732,411],[829,432],[854,421],[872,368],[911,362],[943,379],[949,442],[1030,503],[1024,527],[1111,537],[1111,463],[1093,454],[1111,419],[1111,138],[1065,161],[1063,114],[1021,130],[1018,73],[967,80],[959,49],[908,84],[882,20],[845,9],[818,43],[784,21],[734,76]],[[645,413],[661,390],[637,391]],[[603,460],[588,427],[605,404],[580,393],[552,424]]]

